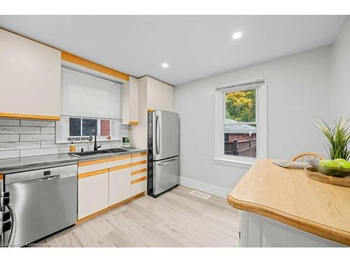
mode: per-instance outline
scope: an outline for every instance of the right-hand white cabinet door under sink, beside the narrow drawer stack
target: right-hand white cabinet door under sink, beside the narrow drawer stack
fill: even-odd
[[[131,168],[109,170],[109,205],[131,197]]]

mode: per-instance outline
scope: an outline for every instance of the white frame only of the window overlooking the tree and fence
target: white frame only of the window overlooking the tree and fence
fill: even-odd
[[[258,159],[267,157],[267,77],[258,79],[260,81],[263,79],[264,82],[262,84],[254,84],[255,80],[241,81],[216,88],[214,157],[216,163],[252,166]],[[229,92],[250,89],[255,89],[256,158],[225,154],[225,95]],[[244,124],[244,122],[239,123]]]

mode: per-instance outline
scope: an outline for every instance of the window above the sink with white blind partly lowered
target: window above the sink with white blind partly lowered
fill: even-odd
[[[120,83],[68,68],[62,68],[61,81],[57,143],[86,142],[92,129],[99,141],[121,140]]]

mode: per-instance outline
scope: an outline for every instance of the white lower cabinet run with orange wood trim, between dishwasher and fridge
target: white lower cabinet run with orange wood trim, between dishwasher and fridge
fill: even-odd
[[[78,219],[145,192],[146,162],[146,152],[79,162]]]

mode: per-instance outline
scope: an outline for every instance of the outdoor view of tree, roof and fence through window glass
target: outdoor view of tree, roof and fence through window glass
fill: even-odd
[[[225,154],[256,157],[255,91],[225,94]]]

